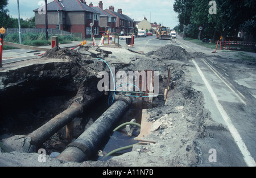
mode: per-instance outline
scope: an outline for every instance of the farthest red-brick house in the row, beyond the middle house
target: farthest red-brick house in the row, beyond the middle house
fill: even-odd
[[[122,14],[122,9],[118,9],[117,12],[114,11],[114,6],[109,6],[109,9],[105,9],[109,14],[115,16],[115,32],[120,33],[123,31],[125,34],[129,32],[134,33],[135,31],[135,21],[129,16]]]

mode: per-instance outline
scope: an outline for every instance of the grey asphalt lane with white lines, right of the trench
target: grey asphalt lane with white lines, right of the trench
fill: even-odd
[[[204,93],[205,107],[214,121],[222,123],[230,133],[214,133],[219,139],[205,140],[205,151],[216,149],[216,165],[256,166],[255,62],[242,62],[240,52],[212,53],[214,50],[182,38],[177,43],[189,52],[205,53],[192,60],[189,74],[194,88]],[[255,53],[246,55],[256,60]]]

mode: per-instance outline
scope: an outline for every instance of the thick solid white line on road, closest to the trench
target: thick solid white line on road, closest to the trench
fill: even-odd
[[[236,142],[238,148],[240,149],[240,151],[243,155],[243,160],[245,160],[245,163],[248,166],[255,167],[256,166],[255,160],[251,156],[249,150],[247,149],[245,143],[243,142],[236,127],[234,127],[234,125],[232,124],[232,121],[230,120],[228,114],[226,114],[226,111],[224,110],[224,108],[222,107],[220,102],[218,101],[218,98],[217,98],[216,94],[213,92],[212,87],[209,85],[207,79],[205,78],[205,76],[204,76],[203,72],[201,71],[201,69],[199,68],[199,66],[196,64],[195,60],[192,60],[192,62],[195,64],[197,71],[199,72],[202,80],[204,81],[205,86],[207,86],[207,89],[213,98],[214,104],[217,106],[218,111],[220,111],[220,114],[221,114],[222,118],[224,119],[226,125],[228,126],[228,129],[229,129],[231,135],[233,136],[234,141]]]

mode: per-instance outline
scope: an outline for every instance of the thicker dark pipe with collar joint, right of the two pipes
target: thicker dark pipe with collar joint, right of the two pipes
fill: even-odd
[[[130,97],[118,98],[75,142],[69,144],[57,159],[64,162],[88,160],[112,133],[113,127],[131,105],[131,102]]]

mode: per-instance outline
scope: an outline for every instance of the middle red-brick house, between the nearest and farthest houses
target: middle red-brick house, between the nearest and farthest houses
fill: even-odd
[[[92,3],[89,6],[100,13],[100,34],[107,31],[109,31],[109,34],[115,32],[116,17],[103,10],[102,1],[98,3],[98,6],[94,7]]]

